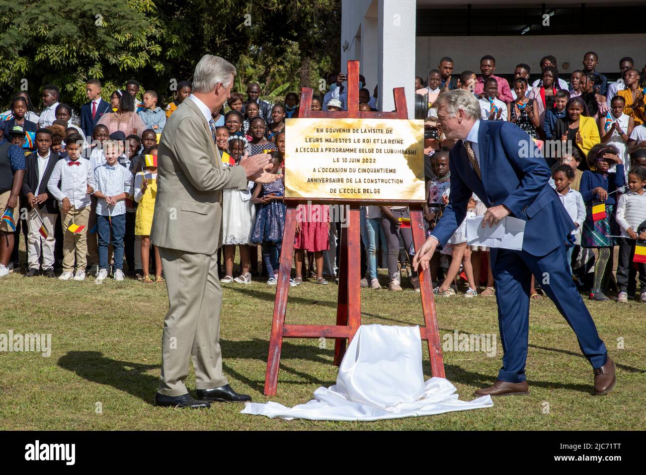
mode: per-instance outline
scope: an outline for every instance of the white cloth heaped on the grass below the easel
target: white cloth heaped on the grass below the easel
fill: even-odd
[[[424,382],[419,326],[362,325],[349,344],[337,384],[312,401],[288,408],[247,403],[242,414],[280,419],[376,421],[430,416],[494,405],[490,396],[460,401],[443,377]]]

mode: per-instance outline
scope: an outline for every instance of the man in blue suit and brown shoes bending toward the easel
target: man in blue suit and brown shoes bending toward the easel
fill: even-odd
[[[435,249],[444,246],[466,216],[475,193],[487,207],[483,226],[505,216],[525,223],[521,251],[491,249],[503,343],[503,367],[493,386],[475,396],[528,394],[525,377],[532,273],[565,317],[581,352],[594,368],[594,394],[607,394],[616,382],[615,364],[599,338],[590,312],[567,265],[567,234],[574,222],[550,187],[550,169],[532,139],[505,121],[480,120],[478,101],[466,90],[451,90],[437,100],[437,118],[447,138],[459,140],[450,152],[449,204],[413,259],[426,271]]]

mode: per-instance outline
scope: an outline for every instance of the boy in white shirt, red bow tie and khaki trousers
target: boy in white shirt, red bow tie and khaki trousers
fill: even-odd
[[[67,157],[58,160],[47,182],[47,189],[59,202],[63,225],[63,273],[61,280],[85,280],[87,224],[94,176],[89,160],[79,160],[83,148],[81,134],[68,136]],[[58,184],[61,184],[60,187]],[[76,267],[74,258],[76,257]],[[74,270],[76,269],[76,273]]]

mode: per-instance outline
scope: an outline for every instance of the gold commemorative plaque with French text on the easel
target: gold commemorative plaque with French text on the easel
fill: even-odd
[[[287,119],[285,197],[424,201],[424,122]]]

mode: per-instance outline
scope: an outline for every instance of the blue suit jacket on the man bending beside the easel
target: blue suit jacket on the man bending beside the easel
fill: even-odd
[[[550,169],[532,138],[513,123],[481,120],[478,145],[482,181],[462,141],[451,149],[449,203],[431,234],[444,246],[475,193],[486,207],[505,205],[510,216],[526,221],[523,251],[544,256],[563,244],[574,222],[548,184]]]

